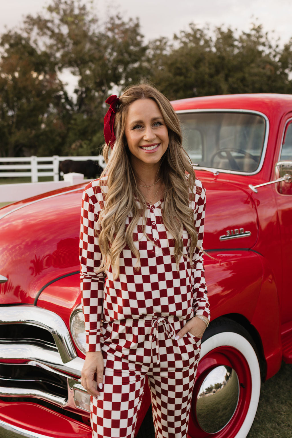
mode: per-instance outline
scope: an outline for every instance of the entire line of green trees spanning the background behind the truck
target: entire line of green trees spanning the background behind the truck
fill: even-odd
[[[115,12],[101,22],[98,1],[51,0],[0,36],[0,156],[96,155],[104,101],[141,78],[169,99],[292,93],[292,39],[281,48],[260,25],[237,35],[190,24],[145,44],[138,19]],[[73,95],[64,71],[77,78]]]

